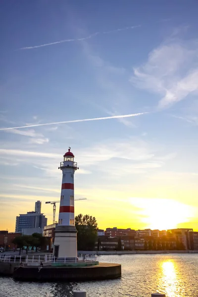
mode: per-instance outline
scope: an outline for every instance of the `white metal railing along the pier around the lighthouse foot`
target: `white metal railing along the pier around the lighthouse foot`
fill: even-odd
[[[54,257],[51,254],[46,255],[0,255],[0,261],[12,262],[12,263],[35,263],[42,262],[44,265],[50,265],[52,263],[83,263],[83,262],[97,262],[97,256],[95,254],[81,254],[78,257],[69,259],[68,257]]]

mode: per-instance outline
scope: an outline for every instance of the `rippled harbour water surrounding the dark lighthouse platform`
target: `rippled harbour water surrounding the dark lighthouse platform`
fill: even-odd
[[[87,297],[198,296],[198,254],[99,256],[100,262],[122,264],[117,280],[85,283],[34,283],[0,278],[0,297],[72,297],[73,290],[86,290]]]

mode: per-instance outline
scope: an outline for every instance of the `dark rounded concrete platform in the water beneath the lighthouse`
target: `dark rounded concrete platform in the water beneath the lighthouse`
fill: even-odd
[[[121,277],[121,265],[99,263],[97,266],[85,267],[38,267],[27,266],[14,268],[13,278],[20,281],[94,281]]]

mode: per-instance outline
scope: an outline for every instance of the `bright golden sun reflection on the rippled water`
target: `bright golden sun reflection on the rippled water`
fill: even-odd
[[[182,281],[177,269],[177,263],[169,260],[161,263],[160,287],[167,297],[182,297]]]

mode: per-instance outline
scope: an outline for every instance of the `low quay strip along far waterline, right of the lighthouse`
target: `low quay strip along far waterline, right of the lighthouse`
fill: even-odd
[[[100,255],[132,255],[132,254],[172,254],[172,253],[198,253],[198,250],[79,250],[78,254]]]

